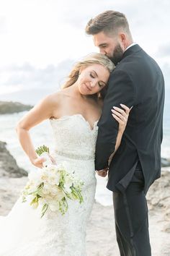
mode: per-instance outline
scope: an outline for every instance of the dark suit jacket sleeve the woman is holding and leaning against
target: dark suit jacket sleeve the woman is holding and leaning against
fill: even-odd
[[[113,118],[111,109],[120,107],[120,103],[128,107],[134,106],[135,87],[127,72],[116,70],[112,72],[108,82],[107,95],[104,98],[102,116],[99,119],[97,136],[95,168],[107,168],[109,156],[115,150],[118,133],[118,122]]]

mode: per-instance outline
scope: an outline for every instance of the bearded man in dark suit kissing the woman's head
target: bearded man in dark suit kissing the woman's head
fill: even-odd
[[[110,109],[132,107],[120,147],[109,163],[107,188],[113,192],[115,227],[121,256],[151,256],[146,192],[161,176],[164,77],[161,69],[133,42],[128,20],[106,11],[89,20],[86,33],[115,63],[104,98],[96,148],[96,169],[107,175],[118,124]]]

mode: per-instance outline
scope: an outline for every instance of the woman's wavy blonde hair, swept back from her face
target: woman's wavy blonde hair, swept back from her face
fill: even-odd
[[[93,64],[100,64],[103,67],[105,67],[109,73],[112,72],[112,70],[115,68],[115,65],[112,63],[112,61],[105,56],[104,54],[97,54],[92,53],[85,56],[81,61],[76,62],[76,64],[73,66],[73,69],[71,70],[70,74],[68,74],[68,78],[62,88],[68,88],[69,86],[73,85],[79,78],[80,70],[82,68],[89,67]],[[99,95],[94,95],[94,97],[97,97]]]

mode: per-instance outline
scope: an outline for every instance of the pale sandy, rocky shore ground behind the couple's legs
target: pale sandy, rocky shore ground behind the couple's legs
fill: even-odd
[[[27,177],[0,179],[0,215],[6,216],[17,200]],[[170,255],[170,172],[162,174],[148,192],[152,255]],[[86,237],[87,256],[119,256],[112,206],[94,203]],[[145,256],[145,255],[143,255]]]

